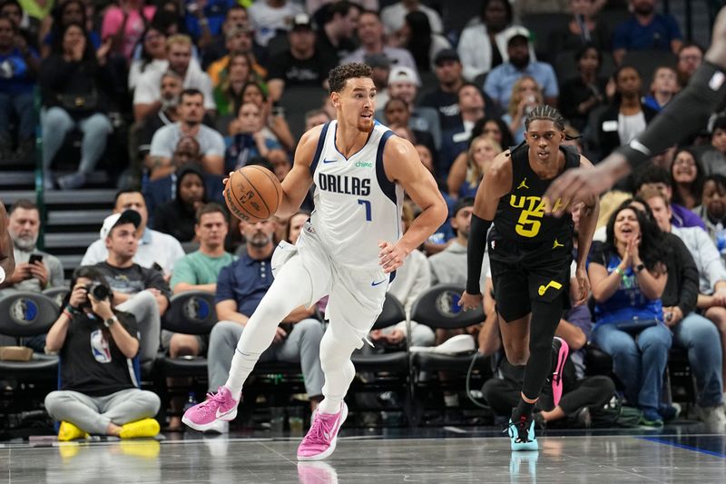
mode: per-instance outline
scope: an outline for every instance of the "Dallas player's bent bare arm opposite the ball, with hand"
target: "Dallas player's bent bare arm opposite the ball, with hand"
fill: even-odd
[[[398,183],[422,212],[397,242],[381,241],[380,263],[385,272],[396,271],[407,255],[426,242],[446,221],[448,209],[438,191],[436,180],[421,163],[411,143],[391,136],[383,151],[383,166],[388,180]]]

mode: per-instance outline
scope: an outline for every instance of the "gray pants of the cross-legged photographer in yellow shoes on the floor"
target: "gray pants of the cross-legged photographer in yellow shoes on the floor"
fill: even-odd
[[[151,391],[128,389],[103,397],[56,390],[45,397],[45,410],[54,420],[65,420],[91,434],[106,435],[108,424],[123,425],[156,415],[162,405]]]

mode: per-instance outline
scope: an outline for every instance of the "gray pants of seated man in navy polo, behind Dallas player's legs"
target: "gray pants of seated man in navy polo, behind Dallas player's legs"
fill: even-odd
[[[219,321],[212,328],[207,351],[210,391],[217,391],[227,381],[242,331],[244,326],[234,321]],[[325,376],[320,368],[320,340],[323,332],[323,325],[318,320],[299,321],[285,340],[272,344],[260,355],[260,361],[299,362],[305,391],[311,397],[322,395]]]

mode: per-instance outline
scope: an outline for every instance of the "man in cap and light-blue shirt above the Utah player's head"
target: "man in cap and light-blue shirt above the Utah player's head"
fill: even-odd
[[[512,86],[523,75],[531,75],[542,88],[544,102],[557,104],[560,94],[557,78],[552,65],[537,62],[530,57],[529,31],[525,27],[513,26],[505,31],[506,53],[509,60],[497,65],[486,76],[484,91],[495,100],[499,107],[506,109],[512,97]]]

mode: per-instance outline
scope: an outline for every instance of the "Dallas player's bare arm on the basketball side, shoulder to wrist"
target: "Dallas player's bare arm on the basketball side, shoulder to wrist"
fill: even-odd
[[[300,205],[308,194],[312,184],[310,164],[318,147],[318,140],[322,126],[316,126],[302,135],[298,148],[295,150],[295,161],[285,180],[282,181],[282,202],[275,215],[289,217],[298,212]]]

